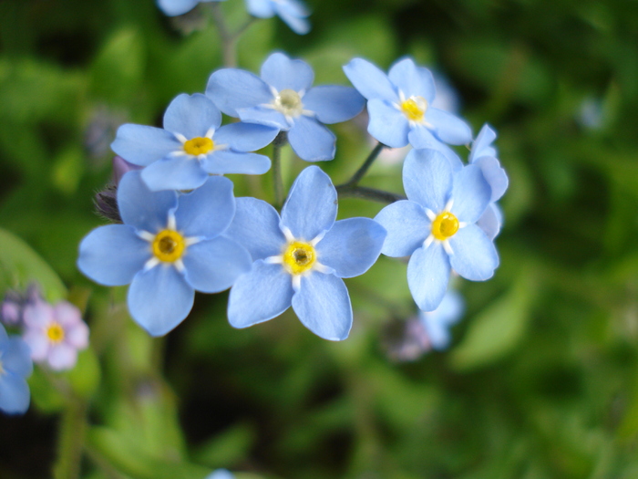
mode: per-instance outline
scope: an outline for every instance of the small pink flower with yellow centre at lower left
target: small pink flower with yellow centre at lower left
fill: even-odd
[[[46,361],[52,370],[76,365],[77,351],[88,346],[88,327],[77,307],[67,301],[56,306],[37,301],[25,307],[24,318],[24,339],[34,361]]]

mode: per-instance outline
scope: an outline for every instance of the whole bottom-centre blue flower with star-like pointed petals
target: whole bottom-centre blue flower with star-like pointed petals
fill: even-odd
[[[321,338],[342,340],[352,327],[342,278],[359,276],[381,251],[386,231],[370,218],[335,222],[337,196],[327,174],[306,168],[293,183],[281,218],[254,198],[238,198],[227,234],[252,255],[250,273],[232,286],[228,318],[246,328],[288,307]]]

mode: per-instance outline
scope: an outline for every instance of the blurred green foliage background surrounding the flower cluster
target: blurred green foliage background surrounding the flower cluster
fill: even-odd
[[[385,257],[348,281],[342,343],[290,311],[235,330],[225,293],[149,338],[126,288],[79,274],[77,245],[104,223],[92,197],[118,125],[159,126],[175,95],[203,91],[221,67],[217,32],[199,10],[170,19],[152,0],[2,0],[0,293],[37,279],[49,299],[68,296],[92,346],[70,373],[36,370],[30,411],[0,417],[0,477],[638,477],[638,3],[307,3],[310,34],[257,22],[240,67],[281,49],[317,83],[346,84],[352,57],[387,68],[410,55],[447,76],[475,133],[499,133],[501,266],[458,283],[467,314],[452,347],[388,358],[388,325],[415,311],[406,267]],[[245,21],[241,0],[223,9]],[[321,166],[344,182],[370,145],[356,122],[334,130]],[[287,184],[304,166],[286,151]],[[269,175],[232,179],[237,195],[272,198]],[[400,165],[362,184],[401,193]],[[340,215],[381,207],[345,200]]]

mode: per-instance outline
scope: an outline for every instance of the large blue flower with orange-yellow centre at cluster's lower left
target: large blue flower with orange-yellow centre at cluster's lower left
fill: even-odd
[[[186,318],[195,290],[217,293],[248,271],[251,258],[220,234],[232,222],[232,182],[209,178],[194,192],[151,192],[140,172],[118,187],[124,224],[100,226],[82,240],[77,266],[106,286],[129,287],[129,312],[152,336]]]

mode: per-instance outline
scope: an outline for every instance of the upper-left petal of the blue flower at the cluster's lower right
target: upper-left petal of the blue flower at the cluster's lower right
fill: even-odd
[[[452,167],[436,150],[412,150],[403,164],[407,198],[433,213],[443,211],[452,190]]]

